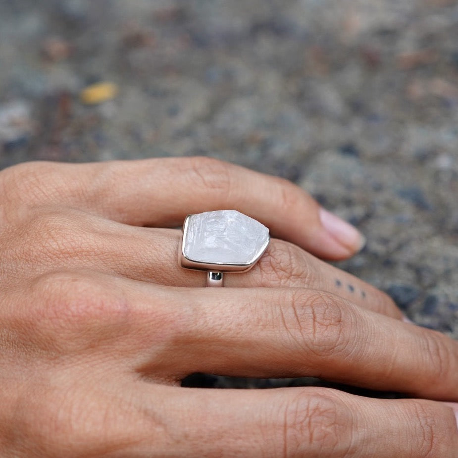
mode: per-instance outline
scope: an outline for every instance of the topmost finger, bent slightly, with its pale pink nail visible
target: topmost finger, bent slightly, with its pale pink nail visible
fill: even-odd
[[[353,226],[292,183],[215,159],[27,163],[1,177],[8,196],[16,189],[27,205],[65,203],[131,225],[175,227],[190,213],[237,209],[324,258],[347,258],[364,245]]]

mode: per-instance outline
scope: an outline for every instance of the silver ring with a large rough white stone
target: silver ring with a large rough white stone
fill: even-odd
[[[188,215],[183,224],[178,263],[207,272],[206,286],[223,286],[224,272],[247,272],[269,245],[269,230],[237,210]]]

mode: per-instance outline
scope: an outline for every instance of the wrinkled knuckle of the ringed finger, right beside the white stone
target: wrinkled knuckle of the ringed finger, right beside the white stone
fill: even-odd
[[[305,286],[311,281],[312,272],[305,252],[282,240],[272,240],[255,268],[263,286],[284,287],[295,281]]]

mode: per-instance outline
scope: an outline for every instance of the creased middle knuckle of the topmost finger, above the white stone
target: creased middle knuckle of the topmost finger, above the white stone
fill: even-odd
[[[210,157],[190,157],[185,163],[186,171],[194,186],[217,192],[227,197],[231,190],[230,165]]]

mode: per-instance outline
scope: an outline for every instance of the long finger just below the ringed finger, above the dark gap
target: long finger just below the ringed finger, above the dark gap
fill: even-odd
[[[303,289],[165,289],[173,303],[166,352],[154,370],[322,379],[409,396],[458,401],[458,342],[431,330]],[[161,296],[162,297],[162,296]],[[148,299],[150,298],[150,299]],[[157,301],[156,301],[157,304]],[[173,308],[168,306],[170,313]],[[140,314],[143,316],[142,314]],[[138,323],[137,333],[146,339]],[[166,331],[164,331],[166,332]],[[143,341],[142,341],[143,342]],[[144,344],[142,344],[144,345]],[[151,361],[148,345],[143,364]],[[414,374],[414,376],[412,375]]]

